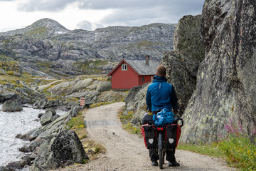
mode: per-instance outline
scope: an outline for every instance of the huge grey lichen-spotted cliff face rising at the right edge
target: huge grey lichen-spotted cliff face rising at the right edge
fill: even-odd
[[[183,142],[213,142],[228,120],[248,135],[256,120],[256,1],[213,1],[203,6],[206,58],[183,114]]]

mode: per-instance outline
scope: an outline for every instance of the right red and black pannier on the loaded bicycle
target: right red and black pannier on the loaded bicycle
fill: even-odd
[[[166,126],[166,148],[174,149],[178,145],[178,140],[181,137],[181,126],[178,124],[168,124]]]

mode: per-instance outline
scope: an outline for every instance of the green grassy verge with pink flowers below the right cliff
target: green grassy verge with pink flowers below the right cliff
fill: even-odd
[[[231,167],[239,170],[256,170],[256,133],[248,136],[240,124],[235,125],[232,120],[225,125],[228,135],[218,143],[205,145],[178,144],[178,149],[198,152],[211,157],[223,157]]]

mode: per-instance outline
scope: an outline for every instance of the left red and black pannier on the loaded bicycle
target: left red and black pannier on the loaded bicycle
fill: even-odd
[[[147,149],[156,148],[156,127],[154,125],[142,125],[142,136]]]

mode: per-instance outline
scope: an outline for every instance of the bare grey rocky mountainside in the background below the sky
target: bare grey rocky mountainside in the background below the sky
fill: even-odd
[[[39,76],[108,73],[122,58],[160,60],[173,48],[176,24],[140,27],[110,26],[95,31],[73,30],[41,19],[14,31],[0,33],[0,60],[19,61],[24,71]],[[100,61],[100,62],[99,62]],[[92,67],[90,63],[97,67]]]

